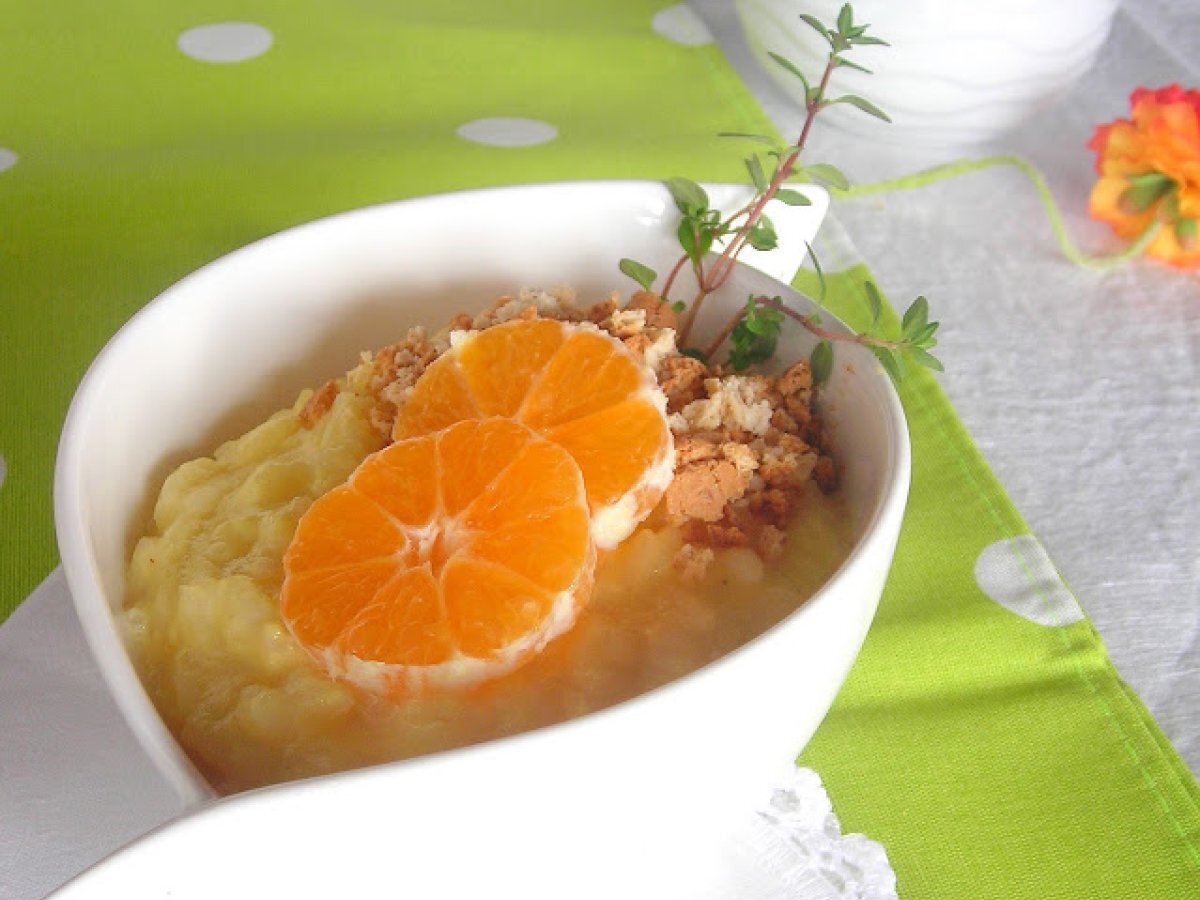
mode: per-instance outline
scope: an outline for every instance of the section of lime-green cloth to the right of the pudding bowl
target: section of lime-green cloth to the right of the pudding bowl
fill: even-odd
[[[858,328],[869,277],[828,278]],[[1200,896],[1195,779],[1090,622],[1036,624],[984,594],[980,552],[1028,528],[935,378],[912,371],[900,395],[913,480],[895,563],[800,762],[844,829],[887,847],[902,898]]]

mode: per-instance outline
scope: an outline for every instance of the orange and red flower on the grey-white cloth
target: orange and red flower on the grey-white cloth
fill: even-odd
[[[1157,218],[1162,226],[1146,252],[1200,266],[1200,91],[1139,88],[1129,104],[1133,121],[1102,125],[1087,144],[1100,175],[1091,214],[1130,240]]]

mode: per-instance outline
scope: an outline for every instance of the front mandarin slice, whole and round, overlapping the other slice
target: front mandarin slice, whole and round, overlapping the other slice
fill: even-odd
[[[335,678],[461,689],[569,629],[594,569],[575,460],[511,419],[474,419],[384,448],[317,499],[281,610]]]

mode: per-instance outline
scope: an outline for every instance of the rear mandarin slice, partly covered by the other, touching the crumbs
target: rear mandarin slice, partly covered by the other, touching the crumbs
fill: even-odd
[[[601,550],[628,538],[671,484],[674,443],[658,379],[594,325],[529,319],[455,332],[413,386],[392,437],[494,415],[575,457]]]

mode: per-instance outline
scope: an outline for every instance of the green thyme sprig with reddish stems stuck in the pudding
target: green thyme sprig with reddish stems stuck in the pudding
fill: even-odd
[[[868,34],[869,25],[854,22],[854,12],[850,4],[841,7],[833,25],[826,25],[808,13],[802,13],[800,19],[821,35],[829,47],[820,78],[814,82],[787,58],[774,52],[768,54],[779,66],[798,78],[803,88],[804,121],[799,136],[788,144],[769,134],[722,132],[721,137],[742,139],[764,148],[744,158],[754,191],[750,199],[732,214],[725,215],[713,209],[708,194],[695,181],[685,178],[667,180],[666,187],[679,210],[676,236],[683,253],[667,271],[662,287],[656,293],[665,301],[672,302],[671,294],[679,275],[685,269],[690,270],[696,282],[695,294],[688,302],[673,301],[674,308],[682,314],[679,344],[690,355],[710,359],[728,341],[728,365],[736,371],[744,371],[774,355],[785,318],[799,322],[820,338],[809,358],[814,378],[818,383],[826,380],[832,371],[835,342],[868,347],[895,380],[902,378],[906,362],[941,371],[941,362],[930,353],[937,343],[934,338],[937,323],[929,322],[929,302],[925,298],[920,296],[913,301],[901,320],[900,332],[889,336],[881,325],[883,302],[878,288],[872,282],[864,284],[866,301],[872,313],[871,325],[866,331],[847,335],[827,330],[821,324],[820,314],[805,316],[796,312],[780,298],[751,296],[721,329],[706,352],[688,347],[696,317],[706,298],[730,277],[740,253],[746,247],[770,251],[779,246],[779,234],[767,215],[768,205],[776,202],[792,206],[810,205],[811,202],[803,192],[786,186],[790,179],[821,182],[835,191],[850,190],[850,181],[836,166],[828,162],[812,164],[799,162],[817,115],[830,106],[845,103],[868,115],[890,121],[887,113],[865,97],[854,94],[841,96],[829,94],[829,79],[838,68],[847,67],[870,74],[870,70],[847,58],[850,50],[856,47],[887,46],[887,42]],[[710,257],[714,247],[720,247],[720,252]],[[812,248],[808,250],[820,280],[821,296],[816,299],[816,304],[821,306],[824,301],[824,275]],[[622,259],[619,268],[643,289],[654,290],[659,276],[649,266],[634,259]]]

